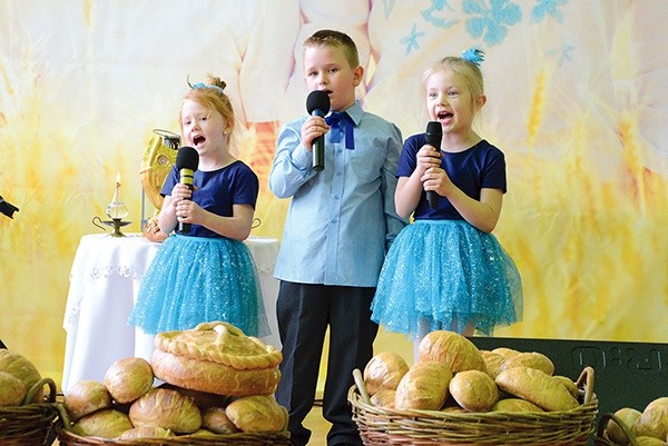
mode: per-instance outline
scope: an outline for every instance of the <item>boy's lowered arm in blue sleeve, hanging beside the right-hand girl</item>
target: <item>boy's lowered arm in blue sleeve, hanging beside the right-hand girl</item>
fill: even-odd
[[[396,238],[409,220],[396,214],[394,206],[394,191],[396,190],[396,165],[402,149],[401,131],[396,126],[392,126],[392,131],[387,138],[385,163],[383,166],[381,190],[383,192],[383,207],[385,212],[385,251]]]

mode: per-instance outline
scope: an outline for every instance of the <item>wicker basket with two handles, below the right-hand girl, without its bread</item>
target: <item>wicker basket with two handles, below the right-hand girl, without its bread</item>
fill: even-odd
[[[586,367],[576,383],[581,405],[544,413],[448,413],[397,410],[371,405],[360,370],[348,392],[353,419],[366,446],[586,445],[593,432],[598,399],[593,369]]]

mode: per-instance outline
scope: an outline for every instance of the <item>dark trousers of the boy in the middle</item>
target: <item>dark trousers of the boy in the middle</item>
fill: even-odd
[[[311,438],[303,422],[313,408],[327,327],[330,355],[323,394],[323,416],[332,423],[327,445],[362,445],[347,393],[353,370],[364,370],[373,356],[379,330],[371,321],[374,293],[375,288],[366,287],[281,283],[276,313],[283,361],[276,399],[289,413],[288,429],[295,446],[304,446]]]

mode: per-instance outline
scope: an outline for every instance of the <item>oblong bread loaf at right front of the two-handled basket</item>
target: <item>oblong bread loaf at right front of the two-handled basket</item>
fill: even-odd
[[[495,383],[502,390],[548,412],[570,410],[579,405],[563,385],[537,368],[509,368],[497,376]]]

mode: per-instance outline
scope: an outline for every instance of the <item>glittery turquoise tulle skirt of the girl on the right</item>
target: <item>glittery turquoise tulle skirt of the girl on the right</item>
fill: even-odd
[[[424,321],[491,336],[521,320],[522,305],[520,274],[492,234],[464,220],[416,220],[392,244],[371,308],[375,323],[415,339]]]

